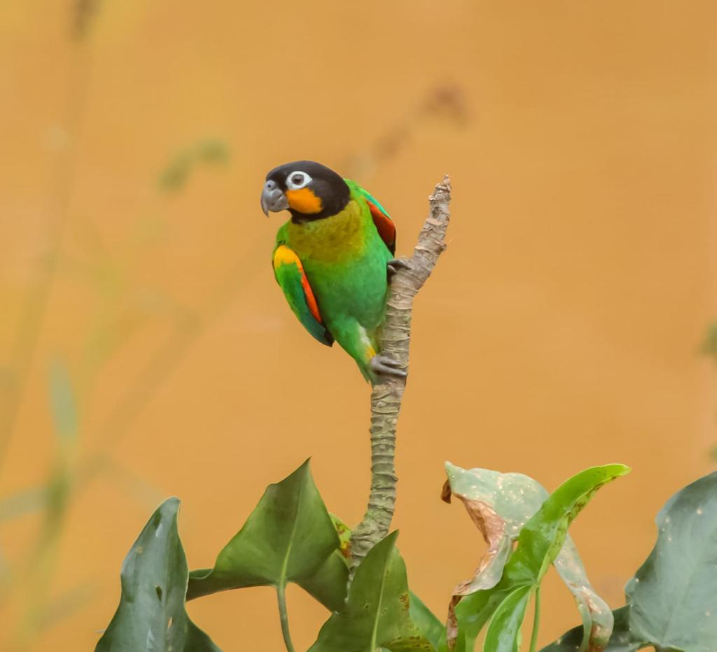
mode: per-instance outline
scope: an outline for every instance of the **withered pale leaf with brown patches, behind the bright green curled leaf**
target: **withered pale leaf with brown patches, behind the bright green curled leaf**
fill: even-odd
[[[473,577],[461,582],[453,592],[447,632],[452,641],[457,631],[455,605],[465,595],[490,589],[498,583],[513,543],[523,525],[541,508],[548,492],[540,483],[522,473],[498,473],[482,468],[466,470],[450,463],[446,463],[446,473],[448,480],[444,488],[444,500],[450,501],[451,495],[457,496],[488,543],[488,550],[483,554]],[[579,649],[586,649],[589,643],[598,645],[607,640],[612,627],[612,613],[590,585],[569,535],[564,539],[555,565],[573,592],[584,620],[584,640]],[[463,628],[475,632],[477,636],[508,592],[496,590],[473,597],[469,603],[470,610],[460,609]],[[472,649],[475,636],[467,640],[459,638],[456,641],[457,649]]]

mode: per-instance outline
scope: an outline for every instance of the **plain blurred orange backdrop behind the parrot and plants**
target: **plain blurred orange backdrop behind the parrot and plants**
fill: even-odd
[[[361,518],[369,388],[285,305],[259,207],[303,158],[369,188],[400,254],[452,176],[399,422],[413,590],[443,618],[483,549],[444,460],[549,489],[619,461],[572,532],[621,605],[657,510],[714,466],[716,22],[675,0],[2,3],[0,648],[92,649],[166,496],[190,567],[309,455]],[[554,576],[543,596],[547,643],[579,617]],[[328,614],[288,599],[306,649]],[[224,650],[283,649],[269,588],[189,612]]]

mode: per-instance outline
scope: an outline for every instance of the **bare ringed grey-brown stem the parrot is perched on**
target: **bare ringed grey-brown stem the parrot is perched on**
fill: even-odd
[[[441,252],[450,221],[450,179],[445,176],[429,197],[430,212],[419,234],[406,269],[391,278],[386,301],[386,319],[381,336],[381,354],[408,368],[413,300],[428,280]],[[396,424],[406,381],[386,377],[371,389],[371,493],[361,523],[351,534],[351,572],[369,550],[389,533],[396,506]]]

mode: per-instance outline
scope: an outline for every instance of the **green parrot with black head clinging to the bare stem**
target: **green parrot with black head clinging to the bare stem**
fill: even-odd
[[[396,227],[359,184],[315,161],[270,170],[262,189],[264,214],[288,210],[278,230],[272,266],[291,310],[321,344],[334,341],[371,384],[405,378],[381,354],[381,326],[391,276],[407,263],[394,258]]]

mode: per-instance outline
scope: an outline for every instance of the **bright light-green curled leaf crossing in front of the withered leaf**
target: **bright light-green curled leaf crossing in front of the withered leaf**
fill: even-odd
[[[596,466],[578,473],[564,482],[543,502],[518,534],[518,547],[503,569],[503,576],[494,587],[470,593],[455,607],[458,631],[449,630],[447,646],[458,651],[473,649],[475,638],[483,625],[500,610],[504,600],[516,603],[522,624],[525,609],[522,600],[514,595],[518,587],[535,590],[543,576],[556,560],[566,541],[567,530],[581,509],[604,484],[630,471],[622,464]],[[522,595],[522,594],[518,594]],[[513,597],[511,597],[513,596]],[[503,613],[503,610],[500,610]],[[522,613],[522,615],[521,615]],[[512,622],[512,621],[511,621]],[[487,640],[486,652],[502,650],[493,647],[498,639]]]

